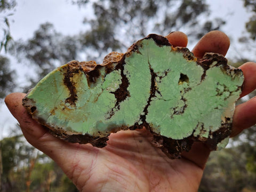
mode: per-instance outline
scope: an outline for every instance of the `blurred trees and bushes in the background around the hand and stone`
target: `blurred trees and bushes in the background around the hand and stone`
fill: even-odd
[[[244,52],[239,52],[237,58],[228,58],[235,67],[256,60],[256,0],[240,1],[252,16],[244,23],[246,33],[238,39]],[[15,14],[18,2],[0,1],[0,105],[4,105],[7,94],[16,90],[27,92],[52,69],[70,60],[83,58],[101,63],[110,51],[125,52],[149,33],[167,35],[180,30],[185,31],[189,41],[196,42],[229,22],[225,18],[210,19],[211,10],[204,0],[67,0],[66,3],[91,9],[93,17],[85,17],[81,23],[88,30],[63,35],[49,21],[40,23],[33,37],[14,41],[10,17]],[[248,58],[246,52],[251,52],[252,57]],[[11,58],[17,59],[14,64]],[[26,84],[17,79],[18,70],[24,65],[21,63],[27,63],[33,71],[27,73],[33,75],[26,74]],[[255,91],[238,104],[254,96]],[[77,191],[49,157],[25,141],[18,126],[10,125],[8,134],[0,141],[0,191]],[[211,153],[199,191],[256,191],[255,126],[232,139],[228,148]]]

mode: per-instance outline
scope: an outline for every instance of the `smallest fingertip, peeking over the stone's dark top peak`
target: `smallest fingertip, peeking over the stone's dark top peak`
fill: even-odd
[[[185,33],[182,33],[181,31],[174,31],[168,35],[165,36],[169,43],[173,47],[186,47],[188,44],[188,37]]]

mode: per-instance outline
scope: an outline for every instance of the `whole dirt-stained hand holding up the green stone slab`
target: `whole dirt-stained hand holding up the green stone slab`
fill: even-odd
[[[174,46],[187,46],[187,36],[174,32],[167,36]],[[229,39],[220,31],[206,34],[193,52],[202,58],[205,52],[225,55]],[[245,82],[241,97],[256,88],[256,63],[240,67]],[[181,159],[169,159],[150,144],[146,129],[119,131],[111,134],[105,148],[90,144],[78,145],[53,137],[37,124],[23,108],[23,93],[12,93],[5,103],[20,123],[31,145],[49,155],[81,191],[197,191],[210,150],[202,143],[182,154]],[[256,98],[236,107],[231,135],[256,123]]]

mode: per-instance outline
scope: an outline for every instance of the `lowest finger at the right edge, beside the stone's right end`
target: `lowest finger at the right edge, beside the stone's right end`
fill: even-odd
[[[230,137],[235,137],[244,129],[256,124],[256,97],[236,107]]]

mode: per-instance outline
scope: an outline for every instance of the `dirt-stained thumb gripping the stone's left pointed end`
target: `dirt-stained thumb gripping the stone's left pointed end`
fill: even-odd
[[[58,164],[62,164],[62,161],[67,160],[66,157],[68,157],[69,154],[71,156],[72,149],[75,145],[54,137],[49,133],[46,127],[38,124],[31,118],[26,109],[22,106],[22,99],[25,95],[24,93],[11,93],[7,95],[5,98],[6,106],[11,114],[18,120],[27,141],[50,156]]]

